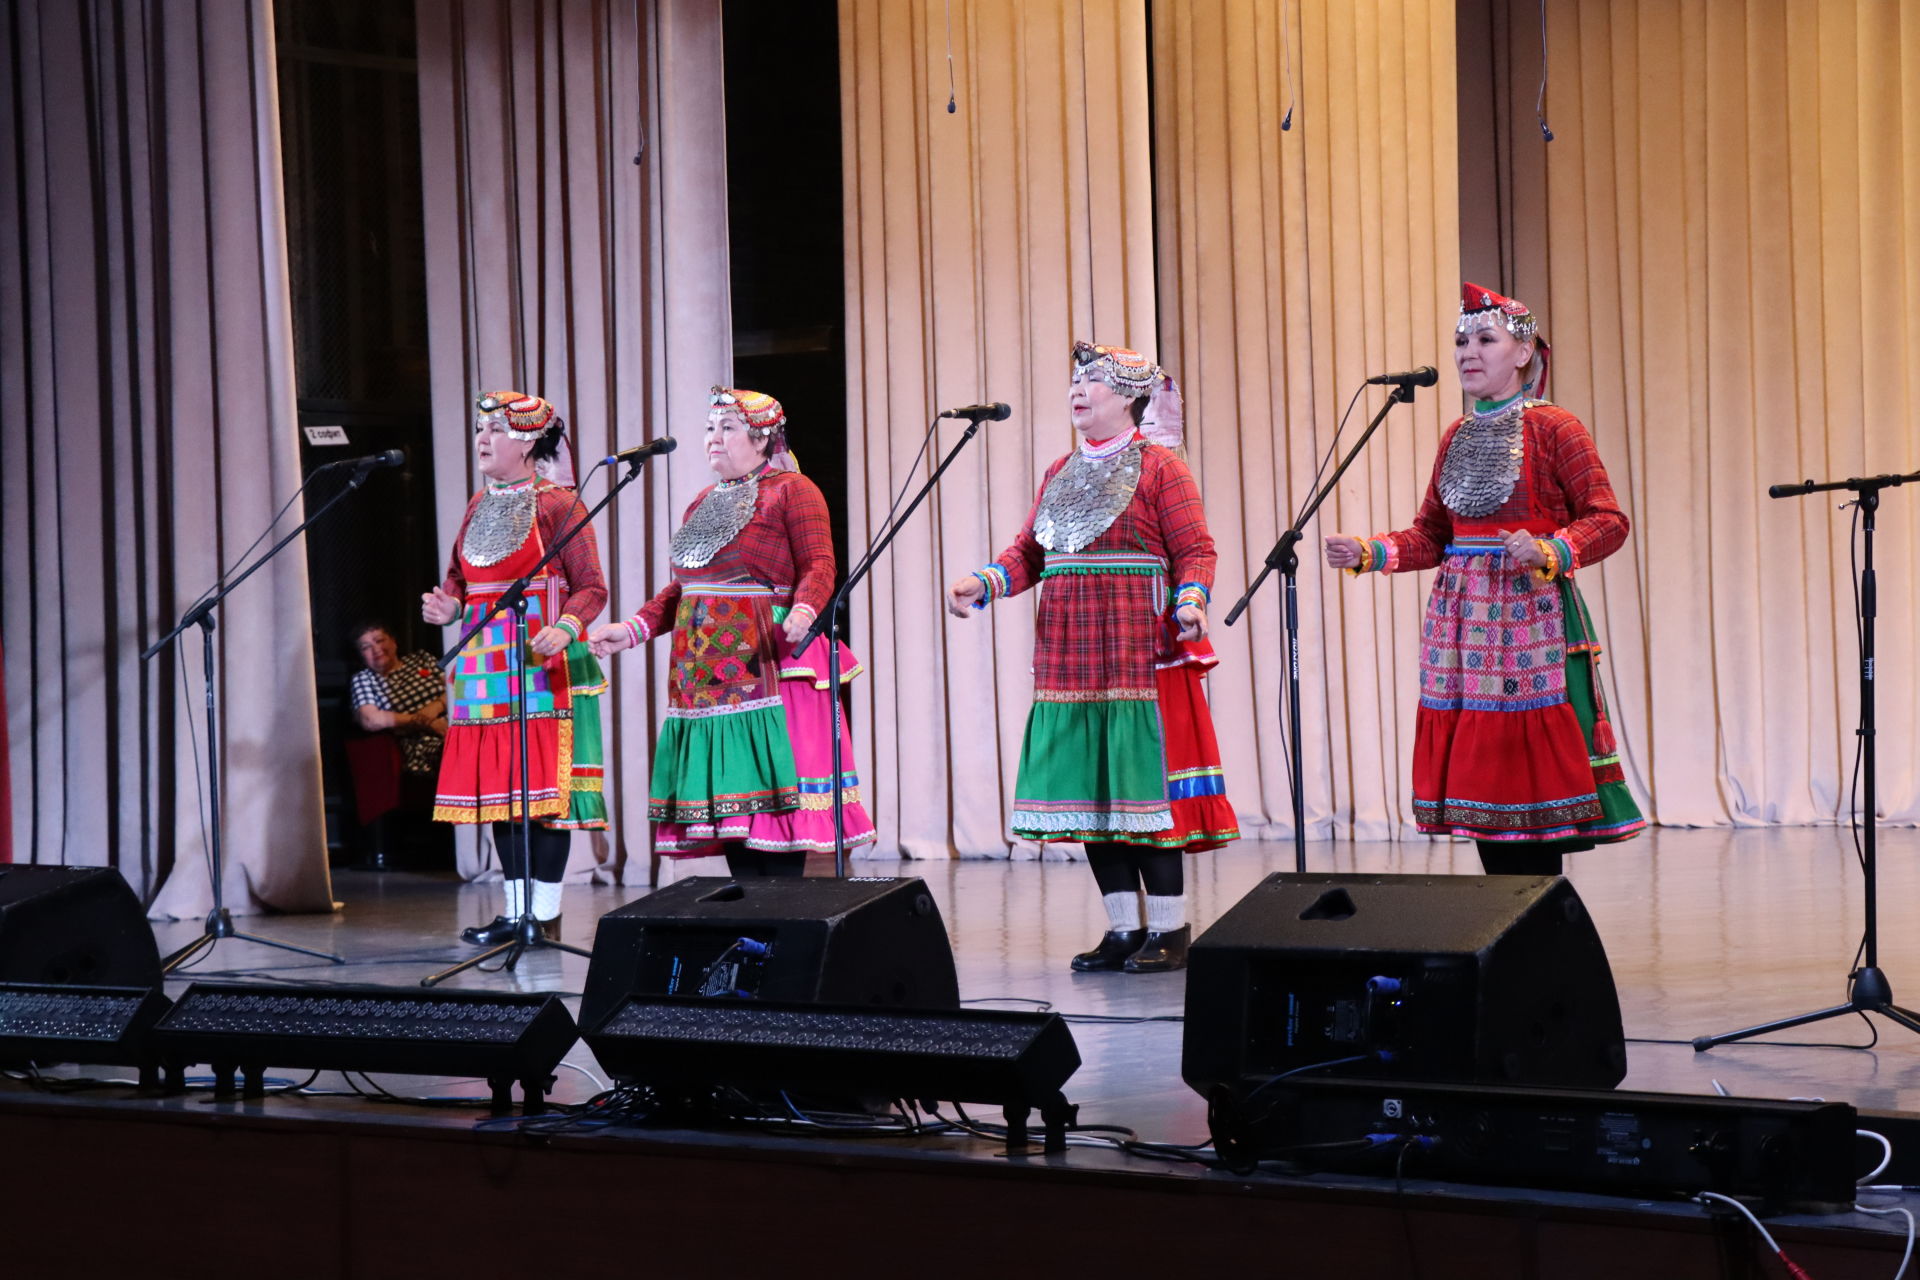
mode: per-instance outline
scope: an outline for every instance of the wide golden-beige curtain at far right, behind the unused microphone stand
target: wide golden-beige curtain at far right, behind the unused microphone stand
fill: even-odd
[[[1766,486],[1920,468],[1920,12],[1549,0],[1551,144],[1538,19],[1492,4],[1484,25],[1480,240],[1544,313],[1553,399],[1634,516],[1586,583],[1632,775],[1663,823],[1845,818],[1849,495]],[[1920,821],[1916,539],[1920,489],[1889,489],[1880,808],[1901,823]]]

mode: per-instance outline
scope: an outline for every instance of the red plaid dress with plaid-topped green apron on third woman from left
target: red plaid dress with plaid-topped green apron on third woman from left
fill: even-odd
[[[1043,495],[1068,457],[1046,468]],[[1041,585],[1014,833],[1187,852],[1238,837],[1200,689],[1217,658],[1183,645],[1173,622],[1175,591],[1213,587],[1192,472],[1144,445],[1133,501],[1077,553],[1041,547],[1037,512],[1039,497],[987,574],[995,599]]]

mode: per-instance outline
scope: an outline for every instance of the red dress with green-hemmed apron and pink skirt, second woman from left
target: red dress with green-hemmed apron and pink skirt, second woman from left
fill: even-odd
[[[701,489],[687,516],[712,489]],[[828,639],[795,654],[789,608],[812,620],[833,595],[833,535],[820,486],[766,472],[753,518],[628,626],[637,641],[672,631],[668,710],[653,756],[653,844],[676,858],[724,842],[795,852],[833,848],[833,706]],[[841,647],[841,681],[860,662]],[[841,723],[847,844],[874,839],[852,741]]]

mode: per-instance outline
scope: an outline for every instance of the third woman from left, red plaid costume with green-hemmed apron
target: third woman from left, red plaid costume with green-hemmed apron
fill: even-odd
[[[1213,537],[1175,451],[1181,393],[1121,347],[1073,344],[1079,447],[1046,468],[998,560],[947,589],[956,618],[1041,585],[1012,829],[1079,841],[1108,931],[1073,969],[1187,967],[1183,854],[1240,835],[1200,677]],[[1144,889],[1144,913],[1140,896]]]

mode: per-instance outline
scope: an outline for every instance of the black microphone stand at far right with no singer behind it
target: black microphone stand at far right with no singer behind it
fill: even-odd
[[[1899,1023],[1907,1031],[1920,1031],[1920,1013],[1912,1009],[1903,1009],[1893,1004],[1893,986],[1887,983],[1887,975],[1880,971],[1880,881],[1878,881],[1878,858],[1874,833],[1880,825],[1880,810],[1874,800],[1876,783],[1876,760],[1874,760],[1874,618],[1878,616],[1878,587],[1874,580],[1874,512],[1880,509],[1880,491],[1891,489],[1903,484],[1920,482],[1920,472],[1910,476],[1868,476],[1868,478],[1849,478],[1849,480],[1830,480],[1826,484],[1816,484],[1805,480],[1801,484],[1776,484],[1766,489],[1768,497],[1799,497],[1803,493],[1826,493],[1832,489],[1847,489],[1859,493],[1860,507],[1860,532],[1864,533],[1864,551],[1860,553],[1860,771],[1864,777],[1864,812],[1866,823],[1860,829],[1860,869],[1864,873],[1864,894],[1866,894],[1866,936],[1860,940],[1860,960],[1866,963],[1847,975],[1847,1004],[1837,1004],[1832,1009],[1818,1009],[1814,1013],[1801,1013],[1797,1017],[1784,1017],[1774,1023],[1761,1023],[1759,1027],[1747,1027],[1745,1031],[1730,1031],[1722,1036],[1695,1036],[1693,1052],[1701,1054],[1716,1044],[1730,1044],[1734,1040],[1745,1040],[1749,1036],[1764,1036],[1770,1031],[1786,1031],[1788,1027],[1805,1027],[1807,1023],[1820,1023],[1830,1017],[1841,1017],[1845,1013],[1878,1013],[1889,1023]]]

